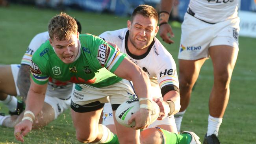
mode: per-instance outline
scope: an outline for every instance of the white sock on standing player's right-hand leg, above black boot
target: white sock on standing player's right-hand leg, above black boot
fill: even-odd
[[[219,127],[221,126],[222,119],[223,118],[214,118],[209,114],[207,136],[212,134],[218,136]]]

